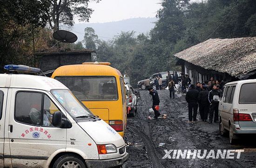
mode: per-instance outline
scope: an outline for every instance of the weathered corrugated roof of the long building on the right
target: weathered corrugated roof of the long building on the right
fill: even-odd
[[[256,37],[209,39],[175,57],[231,76],[248,74],[256,70]]]

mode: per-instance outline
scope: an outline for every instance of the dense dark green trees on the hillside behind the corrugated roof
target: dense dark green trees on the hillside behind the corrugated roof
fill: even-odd
[[[255,0],[163,0],[157,18],[149,35],[122,32],[101,41],[98,60],[111,62],[135,85],[158,71],[180,70],[174,54],[209,38],[256,35]]]

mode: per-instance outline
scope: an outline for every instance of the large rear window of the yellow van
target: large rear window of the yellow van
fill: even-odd
[[[58,76],[80,101],[116,101],[118,92],[115,77]]]

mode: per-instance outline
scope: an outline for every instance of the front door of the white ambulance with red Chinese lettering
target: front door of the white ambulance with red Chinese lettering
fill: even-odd
[[[53,97],[44,91],[13,88],[11,101],[9,143],[12,166],[44,167],[55,151],[66,149],[67,129],[52,125],[54,112],[61,110]]]

